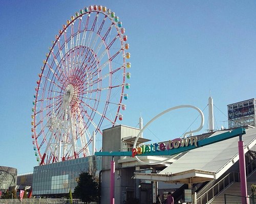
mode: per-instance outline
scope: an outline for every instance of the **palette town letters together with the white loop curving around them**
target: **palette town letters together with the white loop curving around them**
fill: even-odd
[[[139,147],[136,147],[137,141],[138,139],[141,137],[141,134],[143,133],[143,131],[147,128],[148,125],[150,125],[153,121],[155,121],[157,118],[161,117],[162,115],[164,115],[165,113],[168,113],[170,111],[176,110],[176,109],[182,109],[182,108],[192,108],[195,109],[199,112],[200,116],[201,116],[201,124],[198,127],[198,129],[194,130],[194,131],[189,131],[183,134],[183,138],[177,138],[174,140],[170,140],[166,143],[155,143],[155,144],[150,144],[150,145],[141,145]],[[195,106],[191,106],[191,105],[181,105],[181,106],[176,106],[173,108],[169,108],[161,113],[159,113],[157,116],[155,116],[154,118],[152,118],[144,127],[143,129],[141,129],[141,131],[139,132],[139,134],[137,135],[134,145],[133,145],[133,149],[132,149],[132,157],[135,157],[136,160],[142,164],[150,164],[150,165],[155,165],[155,164],[160,164],[163,162],[166,162],[169,160],[169,158],[163,160],[163,161],[159,161],[159,162],[154,162],[154,163],[147,163],[147,162],[143,162],[141,161],[137,155],[140,156],[146,156],[146,154],[150,154],[150,155],[154,155],[154,153],[152,154],[152,152],[156,152],[156,155],[160,155],[161,152],[159,151],[165,151],[165,150],[170,150],[170,149],[177,149],[179,147],[184,147],[184,146],[196,146],[197,147],[197,138],[196,137],[191,137],[191,138],[186,138],[186,136],[188,134],[191,133],[195,133],[200,131],[203,128],[204,125],[204,115],[203,112],[195,107]],[[160,154],[159,154],[160,153]],[[163,154],[164,155],[164,154]]]

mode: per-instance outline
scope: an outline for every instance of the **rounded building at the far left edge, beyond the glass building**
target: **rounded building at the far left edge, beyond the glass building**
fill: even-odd
[[[0,191],[6,192],[9,187],[17,183],[17,169],[0,166]]]

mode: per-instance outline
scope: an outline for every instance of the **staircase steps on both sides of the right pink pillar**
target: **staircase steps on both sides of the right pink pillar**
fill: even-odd
[[[251,185],[256,184],[256,171],[253,171],[246,179],[247,181],[247,192],[248,195],[251,194]],[[224,191],[222,191],[221,194],[216,196],[212,201],[208,202],[210,204],[220,204],[220,203],[225,203],[225,195],[224,194],[229,194],[229,195],[241,195],[241,190],[240,190],[240,182],[234,182],[232,183],[228,188],[226,188]],[[236,199],[241,199],[240,197],[237,197]]]

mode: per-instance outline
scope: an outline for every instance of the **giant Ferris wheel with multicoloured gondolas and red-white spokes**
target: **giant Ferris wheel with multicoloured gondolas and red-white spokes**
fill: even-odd
[[[122,22],[110,9],[81,9],[62,25],[38,74],[32,139],[40,165],[94,154],[102,127],[122,120],[131,55]]]

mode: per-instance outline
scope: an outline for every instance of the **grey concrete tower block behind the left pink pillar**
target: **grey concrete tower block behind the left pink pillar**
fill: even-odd
[[[139,129],[118,125],[110,129],[103,130],[102,151],[120,151],[122,148],[122,138],[136,137]],[[135,167],[121,168],[117,161],[120,157],[115,157],[115,203],[124,203],[127,196],[134,192]],[[110,203],[110,161],[111,157],[102,157],[102,177],[101,177],[101,204]]]

